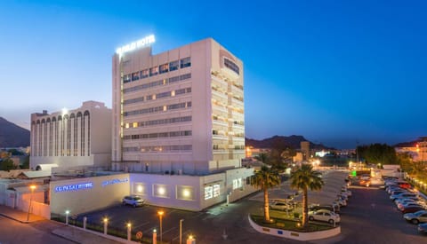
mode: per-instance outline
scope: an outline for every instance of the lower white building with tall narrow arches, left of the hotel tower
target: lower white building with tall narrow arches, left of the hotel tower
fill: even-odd
[[[31,114],[30,168],[109,168],[111,109],[86,101],[81,107],[48,114]]]

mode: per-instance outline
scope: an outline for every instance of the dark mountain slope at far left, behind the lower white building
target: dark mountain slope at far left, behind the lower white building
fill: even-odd
[[[29,130],[0,117],[0,147],[29,146]]]

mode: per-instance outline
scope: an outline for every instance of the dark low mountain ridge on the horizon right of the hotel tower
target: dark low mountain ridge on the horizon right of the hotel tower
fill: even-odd
[[[246,146],[254,146],[254,148],[272,148],[274,144],[289,146],[293,149],[300,149],[302,141],[309,141],[302,136],[274,136],[272,138],[265,138],[262,140],[256,140],[251,138],[245,138]],[[311,149],[334,149],[332,147],[323,146],[322,144],[314,144],[310,142]]]

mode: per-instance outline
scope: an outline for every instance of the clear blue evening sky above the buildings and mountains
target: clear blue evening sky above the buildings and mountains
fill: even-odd
[[[427,136],[425,1],[2,1],[0,116],[111,107],[116,48],[213,37],[245,64],[246,137],[353,148]]]

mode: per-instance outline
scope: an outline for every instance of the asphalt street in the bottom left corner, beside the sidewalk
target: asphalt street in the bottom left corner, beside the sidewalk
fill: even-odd
[[[64,240],[51,232],[59,228],[50,220],[38,221],[31,224],[21,224],[15,220],[0,216],[0,243],[1,244],[68,244],[74,243]]]

